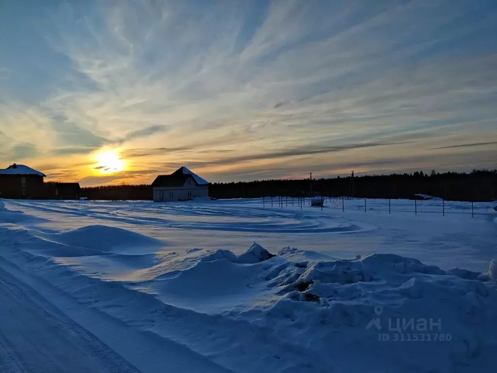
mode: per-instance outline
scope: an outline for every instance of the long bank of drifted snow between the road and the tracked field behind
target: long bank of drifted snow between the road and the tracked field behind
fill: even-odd
[[[18,223],[0,223],[0,265],[48,284],[76,308],[97,310],[109,333],[116,322],[231,372],[495,367],[495,260],[479,273],[395,254],[335,259],[285,247],[274,255],[255,242],[239,255],[235,245],[165,252],[140,227],[53,233],[28,227],[20,211],[2,213]]]

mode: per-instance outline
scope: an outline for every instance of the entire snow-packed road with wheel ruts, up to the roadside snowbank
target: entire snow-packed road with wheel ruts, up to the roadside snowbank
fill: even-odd
[[[233,373],[179,343],[76,302],[23,272],[5,253],[0,348],[0,372],[9,373]]]

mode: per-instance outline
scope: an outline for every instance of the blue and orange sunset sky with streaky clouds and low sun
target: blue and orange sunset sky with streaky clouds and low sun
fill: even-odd
[[[0,168],[210,182],[497,167],[495,0],[0,0]]]

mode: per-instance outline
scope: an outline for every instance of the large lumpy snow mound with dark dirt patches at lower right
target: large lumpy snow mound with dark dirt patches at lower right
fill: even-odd
[[[497,293],[484,282],[488,276],[456,276],[393,254],[274,263],[266,280],[279,298],[243,317],[282,340],[320,349],[337,371],[452,372],[492,359]],[[491,268],[495,275],[495,262]],[[395,342],[422,333],[450,341]],[[348,351],[361,351],[360,362],[344,358],[353,356]]]

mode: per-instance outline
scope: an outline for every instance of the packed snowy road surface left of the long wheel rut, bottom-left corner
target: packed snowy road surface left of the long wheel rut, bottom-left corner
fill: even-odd
[[[1,372],[138,372],[1,268],[0,345]]]

